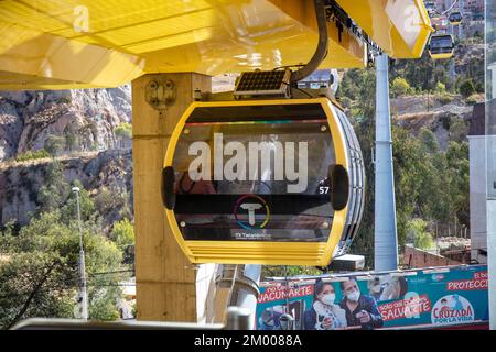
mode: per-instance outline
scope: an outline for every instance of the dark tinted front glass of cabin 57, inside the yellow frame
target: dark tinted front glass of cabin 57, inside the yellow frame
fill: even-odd
[[[320,105],[198,108],[174,153],[180,229],[186,240],[326,241],[334,163]]]

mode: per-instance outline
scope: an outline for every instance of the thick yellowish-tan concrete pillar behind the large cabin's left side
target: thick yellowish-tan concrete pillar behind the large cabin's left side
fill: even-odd
[[[151,81],[166,87],[157,96],[155,107],[147,101]],[[215,265],[190,264],[166,222],[160,189],[169,138],[194,90],[209,91],[211,85],[211,77],[193,73],[152,74],[132,81],[138,320],[205,321]],[[164,100],[169,94],[172,99]]]

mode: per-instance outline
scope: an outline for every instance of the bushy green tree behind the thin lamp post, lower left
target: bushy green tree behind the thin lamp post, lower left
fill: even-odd
[[[115,319],[120,297],[116,272],[122,260],[117,245],[86,221],[84,248],[91,319]],[[11,227],[0,237],[7,261],[0,265],[0,326],[9,328],[28,317],[72,318],[78,285],[79,240],[76,222],[66,224],[58,210],[41,213],[15,235]]]

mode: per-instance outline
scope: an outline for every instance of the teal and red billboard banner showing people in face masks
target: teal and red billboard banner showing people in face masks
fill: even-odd
[[[487,266],[262,283],[259,330],[435,328],[488,320]]]

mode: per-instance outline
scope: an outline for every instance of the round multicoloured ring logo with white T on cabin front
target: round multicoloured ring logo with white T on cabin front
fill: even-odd
[[[266,216],[263,221],[257,224],[256,215],[260,212],[265,212]],[[269,206],[262,197],[257,195],[245,195],[239,198],[234,206],[233,213],[238,224],[246,230],[263,229],[270,219]],[[247,216],[248,221],[246,221]]]

